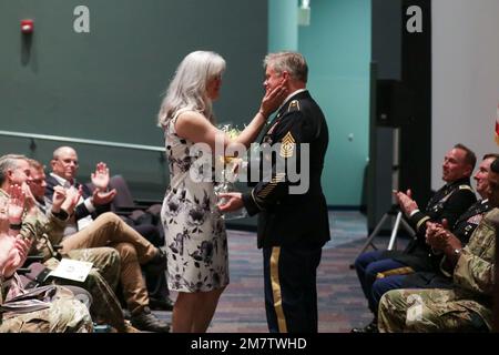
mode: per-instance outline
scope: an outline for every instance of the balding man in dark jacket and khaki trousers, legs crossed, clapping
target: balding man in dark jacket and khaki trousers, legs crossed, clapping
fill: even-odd
[[[70,146],[58,148],[51,161],[52,173],[47,178],[45,203],[52,199],[54,186],[80,189],[82,195],[71,216],[71,229],[64,230],[62,252],[79,248],[111,246],[120,253],[123,296],[131,313],[132,325],[141,331],[169,332],[170,326],[156,318],[150,310],[150,297],[143,280],[141,265],[155,273],[164,273],[166,255],[138,231],[111,212],[109,203],[115,191],[106,191],[109,170],[99,163],[92,173],[94,192],[74,180],[78,155]],[[51,201],[51,200],[50,200]],[[94,220],[95,219],[95,220]]]

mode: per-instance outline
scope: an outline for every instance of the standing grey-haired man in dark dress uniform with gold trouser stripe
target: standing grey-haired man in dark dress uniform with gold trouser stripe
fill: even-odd
[[[227,199],[221,211],[244,205],[249,215],[258,213],[269,331],[315,333],[316,271],[322,247],[330,239],[320,185],[328,129],[306,90],[308,68],[302,54],[268,54],[264,65],[265,89],[283,83],[289,92],[262,140],[262,165],[269,169],[263,169],[249,193],[221,195]]]

